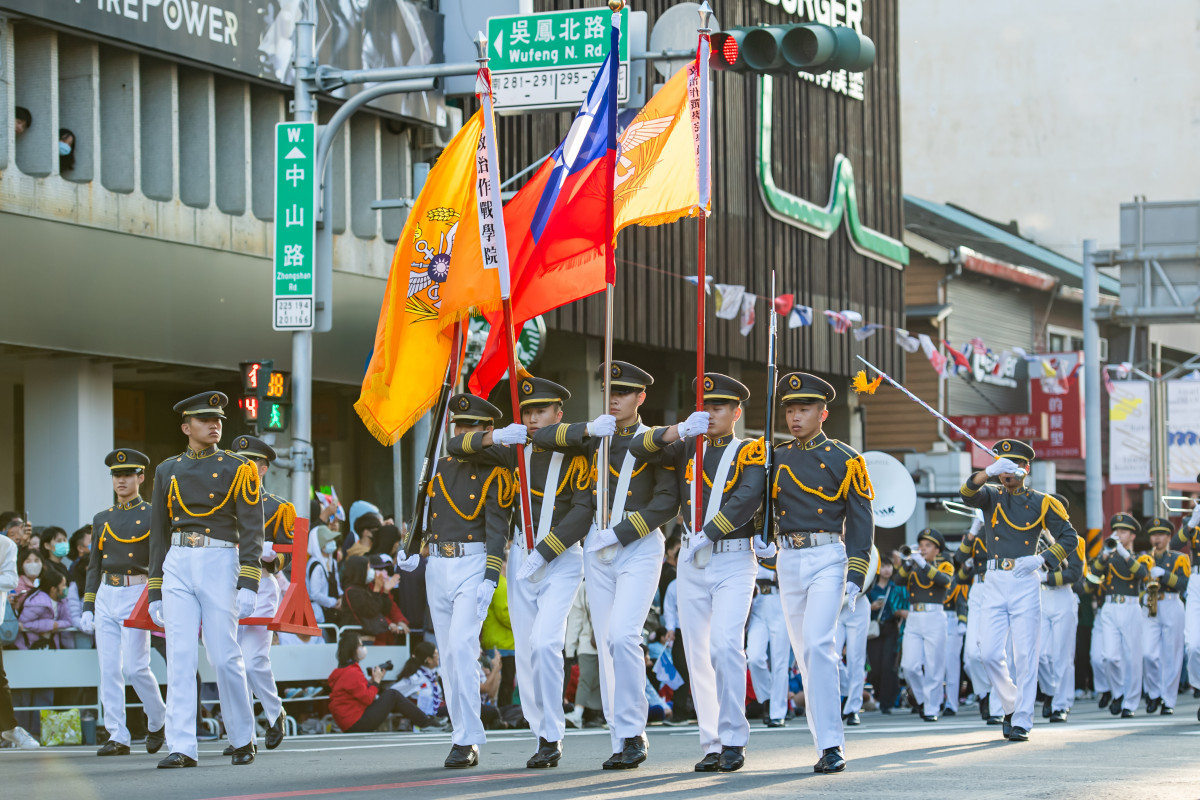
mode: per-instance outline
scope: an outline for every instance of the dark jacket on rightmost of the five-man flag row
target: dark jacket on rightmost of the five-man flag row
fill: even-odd
[[[823,432],[808,443],[775,445],[770,485],[781,535],[844,533],[846,579],[863,588],[875,541],[875,491],[858,452]]]

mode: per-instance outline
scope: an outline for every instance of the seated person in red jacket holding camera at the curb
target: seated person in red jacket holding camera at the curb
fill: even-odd
[[[445,730],[448,720],[430,716],[395,688],[383,685],[395,666],[386,661],[371,668],[367,680],[361,662],[367,646],[355,631],[342,633],[337,643],[337,669],[329,674],[329,712],[343,733],[368,733],[388,721],[389,714],[401,714],[418,728]]]

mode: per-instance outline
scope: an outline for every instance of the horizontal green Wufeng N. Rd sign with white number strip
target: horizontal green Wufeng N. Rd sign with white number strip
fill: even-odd
[[[612,13],[578,8],[541,14],[491,17],[492,85],[496,110],[576,108],[607,55]],[[620,67],[617,100],[629,100],[629,8],[620,14]]]

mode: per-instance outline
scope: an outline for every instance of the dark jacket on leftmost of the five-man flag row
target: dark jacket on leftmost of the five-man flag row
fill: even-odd
[[[426,489],[430,548],[445,543],[485,542],[484,579],[499,583],[516,485],[505,467],[475,464],[446,456]]]

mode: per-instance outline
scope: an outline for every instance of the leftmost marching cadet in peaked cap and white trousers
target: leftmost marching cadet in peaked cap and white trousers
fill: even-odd
[[[104,457],[113,476],[116,504],[91,521],[92,547],[83,596],[79,628],[96,632],[100,658],[100,700],[104,706],[108,741],[97,756],[127,756],[130,729],[125,726],[125,681],[142,699],[146,712],[146,752],[156,753],[166,741],[167,706],[158,680],[150,672],[150,631],[125,627],[142,599],[150,564],[150,504],[140,487],[150,458],[137,450],[114,450]]]

